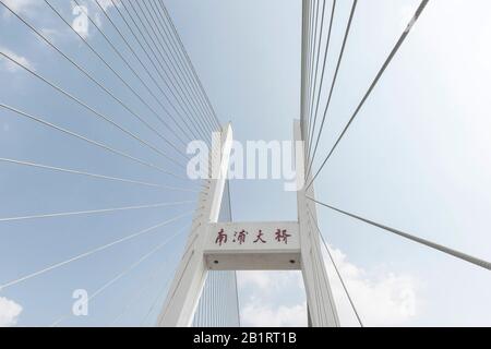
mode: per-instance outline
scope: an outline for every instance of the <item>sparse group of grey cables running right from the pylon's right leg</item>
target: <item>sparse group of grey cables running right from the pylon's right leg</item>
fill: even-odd
[[[382,225],[379,222],[375,222],[373,220],[363,218],[359,215],[355,215],[351,214],[347,210],[343,210],[340,208],[337,208],[333,205],[326,204],[322,201],[318,201],[314,197],[310,197],[308,196],[308,193],[313,194],[313,191],[311,190],[315,180],[320,177],[320,174],[322,173],[322,171],[326,168],[327,161],[331,159],[331,157],[333,156],[333,154],[335,153],[335,151],[337,149],[338,145],[340,144],[340,142],[343,141],[343,139],[345,137],[345,135],[347,134],[349,128],[351,127],[351,124],[354,123],[355,119],[360,115],[366,101],[369,99],[369,97],[372,95],[372,92],[375,89],[375,87],[378,86],[378,84],[380,83],[383,74],[385,73],[385,71],[387,70],[387,68],[390,67],[391,62],[393,61],[394,57],[396,57],[397,52],[399,51],[400,47],[403,46],[403,44],[405,43],[405,40],[407,39],[408,35],[410,34],[411,29],[414,28],[415,24],[418,22],[418,20],[420,19],[421,14],[423,13],[424,9],[427,8],[429,3],[429,0],[422,0],[420,1],[419,5],[416,8],[416,11],[414,13],[414,15],[411,16],[411,19],[408,22],[408,25],[406,26],[406,28],[404,29],[404,32],[400,34],[398,40],[396,41],[396,44],[394,45],[394,47],[392,48],[390,55],[386,57],[386,59],[383,61],[382,67],[380,68],[380,70],[378,71],[375,77],[373,79],[373,81],[371,82],[371,84],[369,85],[367,92],[364,93],[363,97],[361,98],[361,100],[359,101],[359,104],[357,105],[357,107],[355,108],[355,111],[352,112],[351,117],[349,118],[348,122],[346,123],[345,128],[343,129],[343,131],[340,132],[340,134],[336,137],[335,143],[333,144],[333,146],[328,149],[328,152],[326,152],[326,155],[324,157],[324,159],[321,163],[321,166],[319,167],[319,169],[316,169],[315,171],[313,171],[313,167],[314,167],[314,161],[315,161],[315,157],[319,154],[319,145],[320,145],[320,140],[323,135],[323,132],[325,131],[325,124],[326,124],[326,120],[327,120],[327,116],[330,112],[330,106],[332,105],[332,98],[334,96],[334,91],[335,91],[335,86],[336,86],[336,81],[338,79],[339,75],[339,71],[340,71],[340,67],[343,63],[343,58],[347,48],[347,43],[348,43],[348,38],[351,32],[351,26],[355,20],[355,13],[356,13],[356,9],[357,9],[357,4],[358,4],[358,0],[352,0],[352,5],[351,5],[351,10],[350,10],[350,14],[349,14],[349,19],[347,21],[346,24],[346,29],[344,32],[344,37],[343,37],[343,43],[340,46],[340,50],[339,50],[339,55],[337,57],[337,62],[336,62],[336,67],[334,70],[334,76],[331,83],[331,87],[328,89],[327,93],[327,99],[325,103],[321,103],[321,95],[322,95],[322,86],[323,86],[323,82],[324,82],[324,72],[325,72],[325,65],[326,65],[326,61],[327,61],[327,53],[328,53],[328,49],[330,49],[330,43],[331,43],[331,33],[332,33],[332,25],[333,25],[333,21],[334,21],[334,15],[335,15],[335,10],[336,10],[336,1],[333,0],[333,7],[332,7],[332,13],[331,13],[331,21],[330,21],[330,26],[327,29],[327,38],[325,40],[325,48],[324,48],[324,63],[322,67],[322,72],[321,72],[321,81],[320,81],[320,88],[318,91],[318,93],[315,93],[318,84],[316,84],[316,73],[318,73],[318,68],[319,68],[319,52],[320,52],[320,48],[315,48],[315,46],[312,48],[312,45],[315,45],[315,41],[318,40],[318,31],[316,31],[316,23],[318,21],[318,11],[319,11],[319,2],[315,4],[315,0],[306,0],[303,1],[303,26],[302,26],[302,34],[303,34],[303,39],[302,39],[302,84],[301,84],[301,128],[302,128],[302,136],[303,140],[306,141],[306,158],[307,158],[307,168],[306,168],[306,179],[307,179],[307,185],[306,185],[306,190],[304,192],[307,193],[307,198],[309,201],[311,201],[312,203],[315,203],[318,205],[321,205],[325,208],[328,208],[331,210],[334,210],[345,217],[349,217],[351,219],[356,219],[358,221],[362,221],[364,224],[368,224],[370,226],[376,227],[381,230],[385,230],[388,231],[399,238],[404,238],[406,239],[406,241],[412,241],[419,244],[422,244],[427,248],[433,249],[435,251],[440,251],[443,252],[447,255],[451,255],[453,257],[457,257],[462,261],[471,263],[478,267],[484,268],[484,269],[491,269],[491,264],[490,262],[463,253],[460,251],[457,251],[455,249],[451,249],[448,246],[429,241],[427,239],[422,239],[419,238],[418,236],[415,234],[410,234],[407,232],[404,232],[402,230],[395,229],[395,228],[391,228],[386,225]],[[325,3],[324,3],[325,4]],[[324,4],[322,8],[322,19],[321,19],[321,26],[323,26],[324,23]],[[319,45],[321,45],[322,43],[322,33],[325,32],[322,27],[320,29],[321,34],[320,34],[320,38],[319,38]],[[315,57],[315,59],[314,59]],[[313,64],[313,62],[315,62]],[[313,68],[312,68],[313,67]],[[313,72],[312,72],[313,69]],[[313,76],[313,79],[312,79]],[[312,93],[313,92],[313,93]],[[316,101],[315,101],[315,95],[318,96]],[[312,107],[313,105],[315,105],[315,107]],[[318,123],[318,112],[319,112],[319,108],[320,106],[323,107],[323,112],[322,112],[322,118],[320,127],[319,127],[319,131],[316,132],[316,123]],[[321,109],[322,110],[322,109]],[[313,173],[313,176],[311,176]],[[332,261],[332,264],[339,277],[339,280],[342,282],[342,286],[346,292],[346,296],[349,300],[349,303],[354,310],[354,313],[358,320],[358,322],[360,323],[361,326],[363,326],[363,323],[361,322],[361,318],[359,316],[359,313],[357,311],[357,309],[355,308],[355,303],[354,300],[350,296],[350,293],[348,292],[347,286],[343,280],[343,277],[336,266],[336,262],[330,251],[330,248],[325,241],[324,236],[321,233],[320,228],[316,226],[315,220],[310,217],[309,220],[312,222],[314,222],[313,226],[315,227],[311,227],[311,229],[315,228],[315,230],[318,230],[320,237],[322,238],[322,241],[324,243],[325,250]]]

